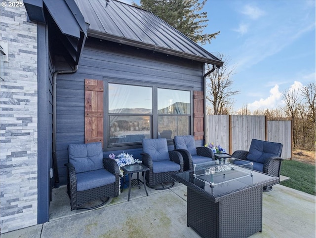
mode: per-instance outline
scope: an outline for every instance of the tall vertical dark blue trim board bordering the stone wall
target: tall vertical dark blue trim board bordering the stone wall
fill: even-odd
[[[49,56],[47,25],[38,24],[38,224],[49,220],[51,119],[49,115]]]

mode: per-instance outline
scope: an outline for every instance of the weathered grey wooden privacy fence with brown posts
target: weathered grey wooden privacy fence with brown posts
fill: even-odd
[[[252,139],[283,144],[281,158],[292,158],[290,120],[267,121],[266,116],[207,115],[206,142],[221,145],[229,154],[249,150]]]

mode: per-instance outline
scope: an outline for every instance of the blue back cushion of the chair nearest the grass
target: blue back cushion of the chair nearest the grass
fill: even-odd
[[[280,157],[282,148],[283,145],[281,143],[252,139],[247,159],[264,163],[269,157]]]

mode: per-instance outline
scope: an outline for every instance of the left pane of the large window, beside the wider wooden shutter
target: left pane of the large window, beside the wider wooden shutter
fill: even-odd
[[[151,138],[152,87],[109,83],[109,145]]]

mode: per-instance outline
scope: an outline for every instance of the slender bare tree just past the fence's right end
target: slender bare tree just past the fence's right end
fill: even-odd
[[[298,110],[299,104],[299,89],[297,88],[296,84],[291,87],[287,92],[282,93],[283,101],[285,102],[285,107],[283,111],[285,112],[286,116],[292,120],[293,125],[293,145],[296,146],[296,127],[295,119]]]

